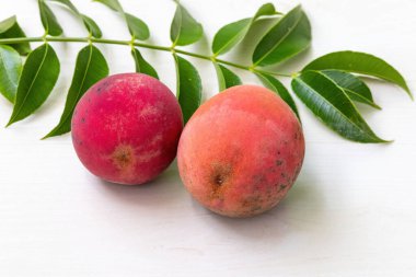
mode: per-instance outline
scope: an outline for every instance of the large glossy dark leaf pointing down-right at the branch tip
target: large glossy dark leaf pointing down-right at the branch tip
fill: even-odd
[[[345,92],[317,71],[305,71],[292,81],[298,97],[330,128],[358,142],[388,142],[379,138]]]

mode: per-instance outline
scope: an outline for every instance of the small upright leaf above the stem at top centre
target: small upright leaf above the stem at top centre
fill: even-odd
[[[171,41],[174,45],[185,46],[199,41],[204,35],[203,25],[177,3],[171,25]]]

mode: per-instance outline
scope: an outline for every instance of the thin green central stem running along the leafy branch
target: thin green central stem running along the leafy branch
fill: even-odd
[[[153,49],[153,50],[160,50],[160,51],[169,51],[169,53],[177,53],[182,55],[186,55],[189,57],[198,58],[198,59],[205,59],[209,61],[216,61],[222,65],[227,65],[230,67],[239,68],[242,70],[247,70],[252,71],[255,73],[264,73],[264,74],[271,74],[271,76],[277,76],[277,77],[287,77],[291,78],[292,74],[287,74],[287,73],[279,73],[275,71],[267,71],[263,69],[258,69],[255,67],[250,67],[250,66],[244,66],[244,65],[239,65],[234,64],[228,60],[223,59],[218,59],[217,56],[206,56],[197,53],[192,53],[192,51],[186,51],[182,49],[177,49],[175,47],[166,47],[166,46],[160,46],[160,45],[153,45],[153,44],[147,44],[147,43],[139,43],[139,42],[132,42],[132,41],[117,41],[117,39],[107,39],[107,38],[95,38],[95,37],[51,37],[51,36],[38,36],[38,37],[16,37],[16,38],[1,38],[0,39],[0,45],[2,44],[19,44],[19,43],[48,43],[48,42],[54,42],[54,43],[95,43],[95,44],[109,44],[109,45],[126,45],[126,46],[137,46],[141,48],[148,48],[148,49]]]

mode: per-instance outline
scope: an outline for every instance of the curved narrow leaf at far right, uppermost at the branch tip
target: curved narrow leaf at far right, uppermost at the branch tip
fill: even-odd
[[[313,60],[302,71],[337,69],[365,76],[372,76],[404,89],[413,99],[402,74],[384,60],[359,51],[336,51]]]

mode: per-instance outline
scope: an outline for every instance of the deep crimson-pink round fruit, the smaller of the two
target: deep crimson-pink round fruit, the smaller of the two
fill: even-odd
[[[72,142],[83,165],[113,183],[153,180],[176,155],[181,107],[159,80],[140,73],[107,77],[78,103]]]

